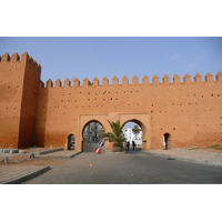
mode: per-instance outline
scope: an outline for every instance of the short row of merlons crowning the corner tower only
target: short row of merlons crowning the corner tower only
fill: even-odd
[[[17,52],[14,52],[11,57],[9,56],[9,53],[4,53],[2,57],[0,57],[0,62],[1,63],[7,63],[7,62],[28,62],[34,69],[37,69],[38,71],[41,71],[41,65],[39,63],[37,63],[37,61],[33,60],[32,57],[30,57],[28,54],[28,52],[23,52],[21,54],[21,58]]]

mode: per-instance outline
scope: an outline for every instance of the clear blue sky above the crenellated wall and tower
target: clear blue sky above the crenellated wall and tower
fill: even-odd
[[[1,37],[0,56],[27,51],[42,67],[41,79],[53,81],[65,78],[84,78],[100,83],[108,77],[110,83],[117,75],[120,83],[124,75],[134,74],[150,81],[154,74],[196,72],[214,77],[222,71],[222,38],[220,37]]]

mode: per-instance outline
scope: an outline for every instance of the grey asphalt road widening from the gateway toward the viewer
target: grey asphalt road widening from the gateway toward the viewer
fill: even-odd
[[[222,167],[199,164],[141,152],[83,152],[24,184],[215,184]]]

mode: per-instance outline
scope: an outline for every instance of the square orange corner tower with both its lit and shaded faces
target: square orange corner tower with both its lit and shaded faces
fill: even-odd
[[[0,147],[19,148],[33,144],[37,81],[40,69],[30,64],[28,53],[6,53],[0,61]],[[37,73],[38,72],[38,73]],[[37,78],[32,78],[37,74]]]

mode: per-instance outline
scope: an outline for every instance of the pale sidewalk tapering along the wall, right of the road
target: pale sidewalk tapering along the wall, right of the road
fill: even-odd
[[[222,152],[221,151],[201,151],[201,150],[184,150],[184,149],[173,149],[173,150],[152,150],[142,151],[144,154],[153,154],[175,160],[204,163],[210,165],[222,167]]]

